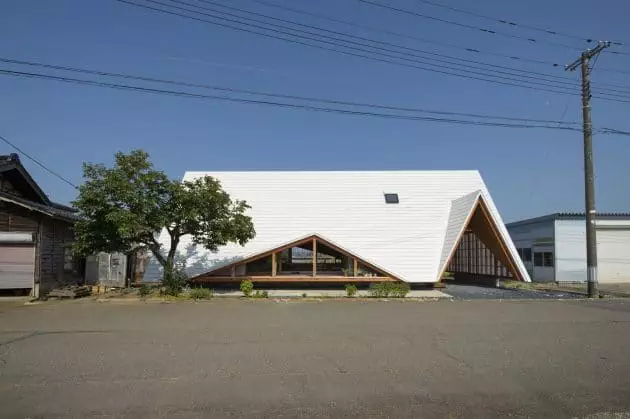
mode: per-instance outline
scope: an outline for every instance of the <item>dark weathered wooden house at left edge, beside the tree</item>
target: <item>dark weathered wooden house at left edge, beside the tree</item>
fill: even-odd
[[[38,297],[58,285],[83,281],[73,257],[76,210],[52,202],[20,163],[0,156],[0,290]]]

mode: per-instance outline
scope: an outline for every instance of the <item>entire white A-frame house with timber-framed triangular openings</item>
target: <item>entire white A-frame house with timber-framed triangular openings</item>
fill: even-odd
[[[529,281],[477,171],[187,172],[251,206],[256,237],[193,248],[198,282],[439,282],[444,272]]]

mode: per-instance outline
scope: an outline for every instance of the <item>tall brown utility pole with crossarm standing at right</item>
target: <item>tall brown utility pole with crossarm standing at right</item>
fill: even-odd
[[[580,58],[565,67],[566,71],[582,68],[582,131],[584,133],[584,192],[586,201],[586,284],[589,298],[599,297],[597,286],[597,239],[595,233],[595,175],[593,174],[593,125],[591,123],[591,81],[589,62],[610,42],[599,42]]]

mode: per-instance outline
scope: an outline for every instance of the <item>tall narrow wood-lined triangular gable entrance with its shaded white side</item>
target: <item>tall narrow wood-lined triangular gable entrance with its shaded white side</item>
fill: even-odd
[[[518,261],[509,251],[481,194],[454,201],[451,212],[461,212],[464,208],[469,208],[465,217],[454,217],[453,214],[449,217],[449,223],[458,224],[449,226],[451,231],[458,231],[458,236],[449,243],[447,231],[445,245],[449,245],[449,249],[443,251],[438,280],[449,272],[457,279],[512,278],[524,281]],[[444,257],[445,254],[448,256]]]

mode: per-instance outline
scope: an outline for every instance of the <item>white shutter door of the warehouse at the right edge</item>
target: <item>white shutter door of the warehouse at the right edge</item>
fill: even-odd
[[[630,283],[630,230],[597,230],[599,282]]]

